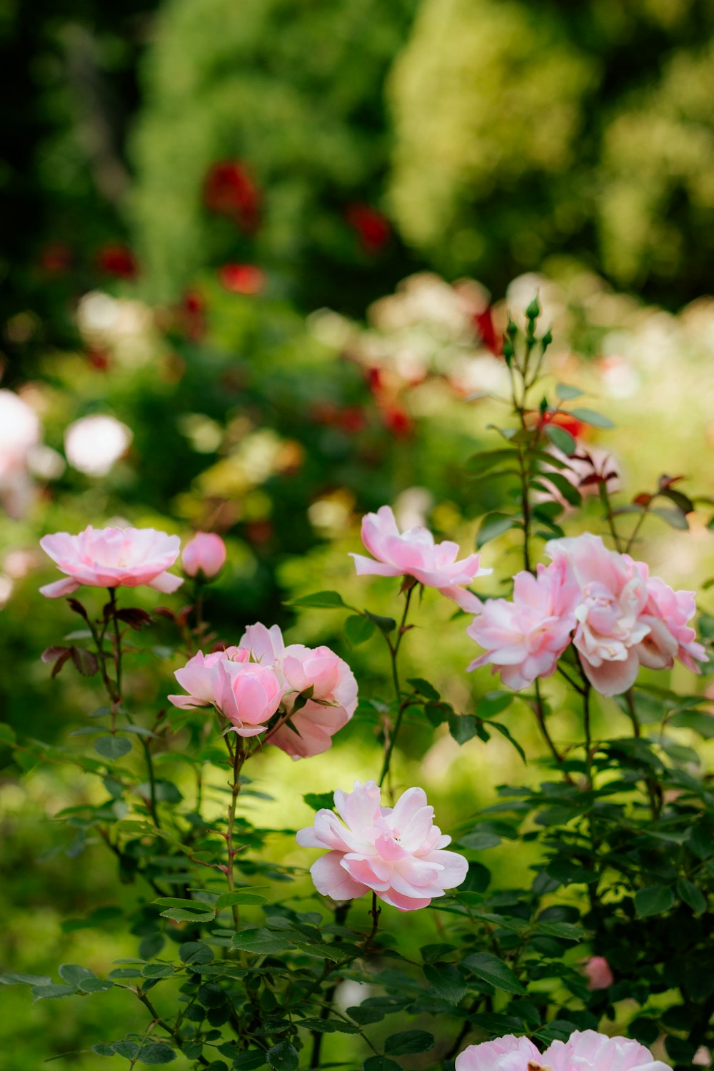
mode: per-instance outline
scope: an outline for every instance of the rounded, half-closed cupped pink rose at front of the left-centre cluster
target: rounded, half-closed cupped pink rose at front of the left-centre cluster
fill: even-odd
[[[283,698],[273,670],[255,662],[222,659],[211,670],[211,688],[216,708],[242,737],[263,733]]]

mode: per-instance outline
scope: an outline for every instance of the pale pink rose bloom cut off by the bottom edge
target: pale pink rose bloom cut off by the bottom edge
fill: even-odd
[[[507,1035],[469,1045],[456,1057],[455,1071],[670,1071],[649,1049],[629,1038],[608,1038],[595,1030],[575,1030],[567,1041],[553,1041],[544,1053],[527,1038]]]

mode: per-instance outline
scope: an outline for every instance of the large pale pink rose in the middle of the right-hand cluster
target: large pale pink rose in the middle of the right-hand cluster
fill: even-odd
[[[590,532],[550,540],[546,552],[580,589],[573,643],[586,676],[602,695],[626,692],[640,666],[639,645],[651,631],[641,617],[649,599],[647,565],[608,550]]]

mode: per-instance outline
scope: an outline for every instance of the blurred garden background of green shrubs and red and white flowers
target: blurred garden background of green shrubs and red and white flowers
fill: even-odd
[[[623,501],[664,472],[714,496],[711,0],[2,0],[0,47],[3,721],[52,743],[96,705],[91,682],[50,681],[39,661],[77,619],[37,594],[54,578],[37,540],[117,519],[219,532],[221,634],[277,621],[379,692],[377,638],[352,651],[338,615],[295,623],[286,601],[335,588],[392,612],[394,587],[358,582],[348,557],[386,502],[471,549],[502,495],[464,466],[503,419],[486,395],[506,389],[506,312],[536,291],[550,386],[577,382],[616,421],[574,431],[611,456]],[[712,504],[697,507],[688,533],[649,533],[675,586],[714,573]],[[576,524],[602,530],[596,501]],[[486,548],[486,593],[516,561],[507,536]],[[465,675],[473,645],[442,602],[427,597],[405,650],[469,709],[490,678]],[[174,663],[161,629],[152,644],[134,689],[154,703]],[[551,702],[567,735],[558,685]],[[537,751],[526,711],[508,718]],[[307,823],[285,801],[374,775],[376,756],[368,721],[310,760],[307,786],[270,755],[277,802],[256,805],[277,828]],[[95,789],[51,764],[20,779],[10,752],[0,765],[0,966],[106,972],[133,946],[111,910],[88,912],[141,891],[51,821]],[[500,738],[459,749],[414,727],[412,775],[447,829],[537,769]],[[274,850],[301,861],[288,836]],[[489,865],[513,879],[499,850]],[[120,995],[2,997],[3,1071],[86,1050],[107,1016],[133,1023]]]

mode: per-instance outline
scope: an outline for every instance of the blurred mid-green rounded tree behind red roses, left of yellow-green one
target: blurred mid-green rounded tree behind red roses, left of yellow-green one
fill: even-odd
[[[133,213],[152,297],[239,260],[308,306],[362,311],[405,274],[379,212],[383,80],[415,7],[167,0],[134,138]]]

